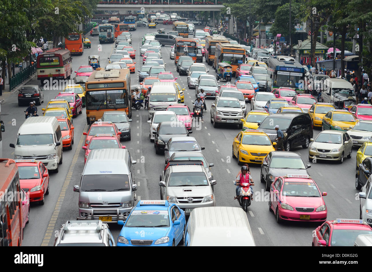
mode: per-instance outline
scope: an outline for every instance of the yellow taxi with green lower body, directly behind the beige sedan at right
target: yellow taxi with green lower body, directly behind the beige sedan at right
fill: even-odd
[[[359,120],[355,119],[353,114],[348,110],[331,110],[324,115],[322,122],[322,130],[349,130],[355,126]]]

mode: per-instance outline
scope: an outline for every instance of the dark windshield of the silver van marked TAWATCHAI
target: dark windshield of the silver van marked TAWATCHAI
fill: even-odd
[[[106,169],[102,169],[105,171]],[[102,171],[102,172],[103,172]],[[115,172],[115,171],[113,171]],[[110,181],[110,182],[107,182]],[[128,175],[83,175],[81,192],[118,192],[129,190]]]

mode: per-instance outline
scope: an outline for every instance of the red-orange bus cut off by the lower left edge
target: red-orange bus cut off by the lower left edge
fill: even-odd
[[[12,159],[0,159],[0,246],[22,245],[23,222],[20,190],[16,162]]]

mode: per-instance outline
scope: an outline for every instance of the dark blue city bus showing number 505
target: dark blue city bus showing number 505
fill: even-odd
[[[272,91],[279,87],[304,93],[305,69],[290,56],[272,56],[267,65],[266,90]]]

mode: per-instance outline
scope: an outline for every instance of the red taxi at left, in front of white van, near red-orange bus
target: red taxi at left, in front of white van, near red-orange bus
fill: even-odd
[[[44,163],[35,159],[15,160],[19,171],[19,183],[29,194],[30,202],[44,205],[45,195],[49,194],[49,174]]]

